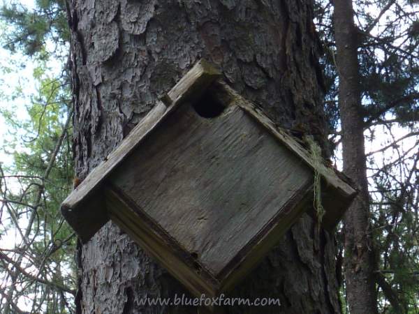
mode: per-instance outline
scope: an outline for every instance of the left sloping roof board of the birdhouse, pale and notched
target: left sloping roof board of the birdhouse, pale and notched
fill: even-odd
[[[205,88],[213,82],[216,77],[219,77],[219,72],[214,70],[207,62],[199,61],[191,70],[189,70],[182,80],[180,80],[175,87],[173,87],[166,97],[166,107],[159,101],[154,108],[147,114],[147,116],[140,121],[140,123],[133,128],[131,133],[119,144],[117,149],[105,158],[105,160],[90,172],[82,183],[68,195],[66,200],[61,204],[61,211],[65,217],[71,217],[80,206],[81,202],[93,193],[93,191],[101,185],[103,180],[115,170],[115,168],[122,163],[124,158],[131,154],[131,152],[138,147],[140,142],[158,126],[170,112],[175,110],[177,105],[189,100],[191,97],[198,96]],[[70,219],[76,221],[76,219]],[[79,220],[77,220],[79,221]],[[89,222],[72,225],[78,234],[85,233],[82,229],[89,228]]]

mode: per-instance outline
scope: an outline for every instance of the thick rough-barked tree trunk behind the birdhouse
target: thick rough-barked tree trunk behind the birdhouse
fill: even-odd
[[[68,0],[74,152],[83,178],[200,57],[277,124],[325,144],[311,0]],[[173,223],[176,223],[175,221]],[[226,313],[340,313],[335,240],[304,215],[232,292],[279,308]],[[197,313],[140,306],[184,290],[108,223],[80,248],[78,313]]]

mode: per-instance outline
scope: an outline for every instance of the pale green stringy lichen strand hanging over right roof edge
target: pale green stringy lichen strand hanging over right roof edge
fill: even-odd
[[[309,145],[311,158],[313,160],[314,167],[314,183],[313,183],[313,206],[316,210],[318,228],[320,229],[323,216],[325,215],[325,209],[321,204],[321,175],[320,168],[323,167],[323,158],[321,156],[321,148],[314,141],[314,137],[311,135],[305,136],[305,142]]]

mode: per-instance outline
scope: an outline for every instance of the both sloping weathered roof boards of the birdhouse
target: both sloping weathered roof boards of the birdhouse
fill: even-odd
[[[162,102],[157,103],[145,119],[142,119],[138,126],[131,131],[131,133],[122,141],[122,143],[112,151],[112,153],[96,167],[84,181],[76,188],[71,195],[69,195],[66,200],[64,200],[61,205],[61,211],[64,216],[72,223],[73,228],[78,232],[82,241],[87,241],[87,239],[98,230],[101,225],[103,225],[107,218],[105,213],[101,213],[100,209],[94,212],[86,212],[83,210],[78,210],[80,203],[84,201],[87,197],[91,196],[91,193],[94,192],[101,185],[103,180],[108,177],[108,175],[116,169],[116,167],[122,163],[124,158],[131,154],[136,147],[144,140],[149,133],[152,133],[152,130],[161,124],[161,121],[170,115],[170,112],[175,110],[177,105],[183,103],[185,100],[196,100],[200,95],[203,94],[205,89],[219,77],[220,73],[212,68],[210,64],[206,61],[201,60],[196,63],[195,66],[189,72],[182,77],[181,80],[173,87],[169,93],[164,97],[166,105],[163,105]],[[314,162],[311,159],[309,153],[298,144],[293,137],[288,135],[283,130],[277,128],[274,123],[268,119],[265,114],[260,112],[257,107],[255,107],[248,100],[242,98],[237,94],[233,89],[228,87],[227,84],[219,81],[216,84],[216,87],[223,89],[227,97],[223,98],[224,102],[228,102],[232,106],[241,107],[243,110],[248,112],[251,117],[256,119],[258,123],[264,126],[270,133],[272,133],[277,139],[284,144],[285,147],[291,149],[294,154],[299,156],[304,160],[307,165],[314,168]],[[161,146],[159,146],[161,147]],[[325,179],[328,186],[335,188],[342,197],[352,199],[355,195],[355,190],[345,181],[341,180],[337,174],[330,168],[321,166],[318,171],[321,173]],[[341,207],[339,214],[336,212],[332,213],[332,216],[326,217],[325,222],[329,226],[334,227],[337,223],[337,220],[341,217],[344,212],[345,207]],[[89,209],[87,209],[89,210]],[[336,211],[336,209],[335,209]],[[101,223],[95,225],[94,229],[89,226],[90,216],[100,216]],[[328,215],[328,213],[326,213]],[[77,217],[76,217],[77,216]],[[89,230],[89,232],[86,232]]]

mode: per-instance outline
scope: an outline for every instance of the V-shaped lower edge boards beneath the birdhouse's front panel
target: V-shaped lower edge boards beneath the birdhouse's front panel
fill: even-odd
[[[293,199],[288,200],[287,214],[279,211],[264,230],[260,231],[260,237],[254,237],[242,251],[239,260],[227,265],[219,278],[206,271],[200,265],[200,261],[191,257],[190,252],[184,251],[181,244],[171,239],[164,230],[159,230],[159,225],[145,216],[145,211],[138,208],[124,196],[120,190],[107,186],[105,195],[107,207],[112,221],[130,235],[142,248],[156,258],[163,267],[168,269],[197,297],[206,294],[207,297],[215,297],[221,292],[228,292],[238,282],[242,281],[246,274],[260,262],[265,254],[278,243],[281,236],[286,232],[284,225],[291,225],[300,217],[311,200],[311,188],[303,186],[301,193],[296,193]],[[139,219],[140,217],[140,219]],[[229,267],[231,266],[231,267]],[[217,280],[218,279],[218,280]],[[214,308],[211,308],[214,311]],[[210,312],[212,312],[210,311]],[[219,313],[219,309],[216,309]]]

